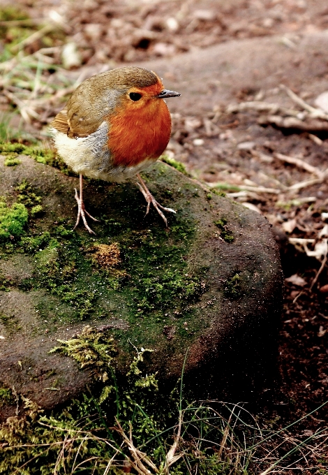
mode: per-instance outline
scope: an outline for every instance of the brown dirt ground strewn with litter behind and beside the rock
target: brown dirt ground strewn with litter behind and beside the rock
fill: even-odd
[[[324,31],[328,27],[328,6],[322,0],[84,0],[75,3],[21,0],[20,3],[32,17],[46,16],[49,10],[60,13],[66,35],[79,45],[82,65],[98,69],[99,64],[169,58],[179,52],[199,51],[231,40],[274,34],[281,35],[287,46],[286,54],[290,54],[288,47],[293,47],[297,35]],[[40,43],[31,45],[29,53],[39,47]],[[322,78],[327,80],[327,68],[322,71]],[[174,78],[168,79],[174,84]],[[215,82],[213,89],[216,90]],[[313,91],[295,92],[313,103]],[[281,101],[281,91],[277,88],[239,88],[234,92],[233,102],[279,103],[278,96]],[[291,105],[289,101],[288,107]],[[61,106],[54,105],[49,117],[56,107],[59,110]],[[323,268],[318,283],[311,288],[320,261],[306,256],[288,242],[288,238],[318,240],[318,233],[325,226],[322,212],[328,212],[328,185],[323,181],[289,195],[283,191],[240,191],[232,185],[283,189],[309,180],[313,177],[311,173],[278,160],[274,154],[297,157],[318,170],[325,170],[328,168],[328,130],[318,133],[281,129],[270,124],[263,126],[258,124],[260,115],[256,111],[227,112],[226,103],[216,103],[214,110],[206,113],[175,112],[169,153],[210,186],[229,183],[228,194],[232,198],[251,203],[267,217],[281,247],[285,277],[298,275],[304,279],[286,281],[285,285],[279,341],[280,376],[276,387],[264,392],[259,401],[264,407],[262,416],[270,426],[269,419],[275,419],[280,425],[304,416],[328,400],[328,269]],[[49,117],[45,122],[49,122]],[[42,124],[35,125],[40,129]],[[309,248],[313,246],[309,244]],[[301,423],[296,435],[308,436],[327,425],[327,420],[326,407]],[[308,454],[307,462],[299,466],[299,473],[322,473],[323,462],[315,453],[313,449],[313,453]],[[318,453],[322,454],[322,447]]]

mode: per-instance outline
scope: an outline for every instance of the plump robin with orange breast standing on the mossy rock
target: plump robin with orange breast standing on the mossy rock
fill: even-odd
[[[153,205],[167,227],[165,212],[147,188],[140,172],[163,154],[171,135],[171,116],[166,98],[180,96],[164,89],[161,78],[138,66],[125,66],[84,80],[66,106],[50,124],[54,146],[61,159],[80,175],[80,192],[75,188],[77,220],[90,234],[96,234],[87,217],[83,200],[83,175],[108,182],[125,182],[137,177],[137,186]]]

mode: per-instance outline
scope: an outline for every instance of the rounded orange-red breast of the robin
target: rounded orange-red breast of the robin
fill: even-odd
[[[163,99],[152,98],[144,107],[126,107],[108,117],[108,148],[114,166],[135,166],[158,159],[170,140],[171,117]]]

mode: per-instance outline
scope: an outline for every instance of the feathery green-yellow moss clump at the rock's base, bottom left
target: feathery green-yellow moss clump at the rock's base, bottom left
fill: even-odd
[[[26,474],[64,474],[70,473],[79,464],[82,471],[100,475],[113,455],[119,454],[118,460],[124,460],[129,454],[128,447],[121,444],[119,432],[110,428],[114,423],[118,424],[114,416],[119,419],[118,427],[127,432],[133,423],[135,444],[152,437],[154,430],[163,429],[163,420],[167,416],[163,411],[160,411],[159,417],[158,414],[155,416],[158,411],[158,405],[154,404],[158,400],[156,375],[145,374],[143,368],[144,358],[151,351],[135,348],[137,354],[128,367],[126,377],[118,384],[114,370],[117,352],[108,330],[99,332],[86,327],[80,335],[60,343],[52,352],[70,356],[77,360],[80,367],[89,368],[98,385],[90,393],[81,395],[79,400],[69,402],[66,407],[48,415],[21,396],[20,417],[8,419],[0,428],[0,473],[14,473],[19,469],[20,473]],[[5,404],[13,402],[7,389],[3,390],[3,395],[6,397]],[[166,409],[170,406],[170,402],[167,404],[163,398],[163,407],[164,404]],[[144,409],[148,414],[144,413]],[[66,453],[61,441],[67,435],[70,444]],[[157,446],[155,437],[155,444],[149,446],[149,451],[152,453]],[[64,457],[61,458],[61,454]],[[89,457],[91,460],[88,460]],[[123,472],[113,467],[108,473]]]

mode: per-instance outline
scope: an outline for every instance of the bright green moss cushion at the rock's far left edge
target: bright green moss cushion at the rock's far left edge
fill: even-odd
[[[0,242],[20,237],[28,218],[29,214],[22,203],[9,207],[0,200]]]

